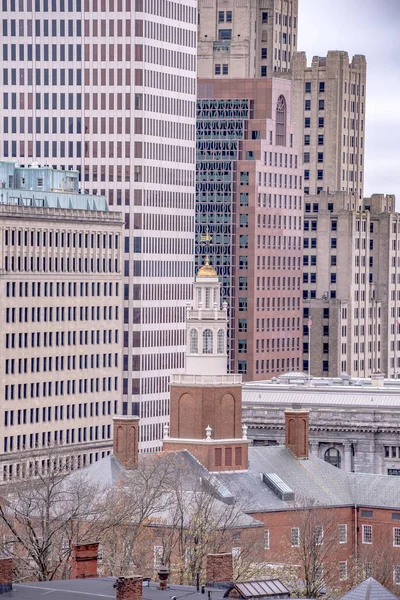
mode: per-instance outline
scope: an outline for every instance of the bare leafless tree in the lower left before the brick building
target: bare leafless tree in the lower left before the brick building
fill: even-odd
[[[69,477],[57,458],[52,453],[45,473],[2,488],[0,549],[16,559],[20,579],[66,576],[72,543],[88,539],[100,516],[94,486],[83,472]]]

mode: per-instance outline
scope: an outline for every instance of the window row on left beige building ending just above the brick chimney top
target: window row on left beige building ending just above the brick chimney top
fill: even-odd
[[[112,413],[114,407],[114,413]],[[21,408],[18,410],[4,411],[4,427],[13,425],[26,425],[27,423],[49,423],[51,421],[63,421],[69,419],[86,419],[87,417],[99,417],[117,414],[118,401],[111,400],[103,402],[89,402],[80,404],[67,404],[60,406],[43,406],[41,409]],[[40,418],[41,416],[41,418]]]

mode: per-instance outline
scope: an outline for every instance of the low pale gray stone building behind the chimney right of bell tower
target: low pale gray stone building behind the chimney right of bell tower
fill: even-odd
[[[245,383],[243,422],[256,445],[282,444],[285,410],[310,411],[309,450],[347,472],[400,475],[399,383],[288,373]]]

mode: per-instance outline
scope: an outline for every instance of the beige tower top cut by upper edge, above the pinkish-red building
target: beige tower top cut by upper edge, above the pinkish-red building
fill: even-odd
[[[198,11],[199,77],[272,77],[291,68],[298,0],[199,0]]]

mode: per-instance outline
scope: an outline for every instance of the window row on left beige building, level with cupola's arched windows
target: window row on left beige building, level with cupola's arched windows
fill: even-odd
[[[79,333],[79,336],[78,336]],[[43,336],[43,338],[42,338]],[[79,341],[78,341],[79,337]],[[114,338],[114,339],[113,339]],[[6,333],[6,348],[52,348],[54,346],[79,346],[89,344],[118,344],[119,330],[104,329],[101,336],[100,329],[91,331],[44,331],[31,333]],[[67,343],[65,343],[65,341]]]

